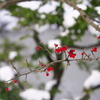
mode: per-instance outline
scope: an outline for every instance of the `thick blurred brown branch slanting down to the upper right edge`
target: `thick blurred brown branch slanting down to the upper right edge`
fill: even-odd
[[[70,0],[60,0],[63,3],[66,3],[68,5],[70,5],[71,7],[73,7],[75,10],[79,11],[80,15],[82,16],[82,18],[91,26],[93,26],[97,31],[100,31],[100,27],[99,25],[96,25],[95,23],[93,23],[93,21],[89,18],[89,16],[81,9],[79,8],[75,3],[71,2]]]

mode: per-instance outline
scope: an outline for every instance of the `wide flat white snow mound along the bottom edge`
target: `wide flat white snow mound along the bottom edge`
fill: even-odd
[[[26,100],[49,100],[50,94],[47,91],[37,89],[27,89],[20,93],[20,96]]]

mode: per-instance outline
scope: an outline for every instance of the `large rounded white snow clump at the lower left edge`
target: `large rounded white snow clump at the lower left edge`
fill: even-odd
[[[0,68],[0,79],[8,81],[14,77],[14,72],[10,66],[3,66]]]

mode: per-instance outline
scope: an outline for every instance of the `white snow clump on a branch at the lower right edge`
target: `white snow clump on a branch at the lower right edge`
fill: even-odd
[[[93,70],[91,75],[84,82],[84,88],[90,89],[91,87],[95,87],[100,85],[100,72],[97,70]]]

